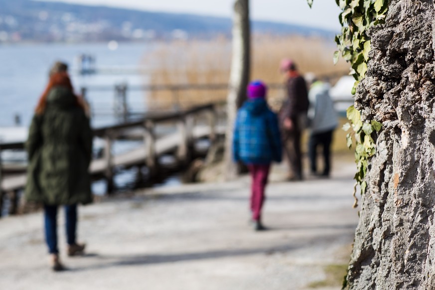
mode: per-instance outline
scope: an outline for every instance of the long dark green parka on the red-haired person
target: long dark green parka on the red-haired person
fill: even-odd
[[[92,131],[69,89],[50,90],[44,113],[33,117],[26,150],[28,201],[47,205],[92,202]]]

